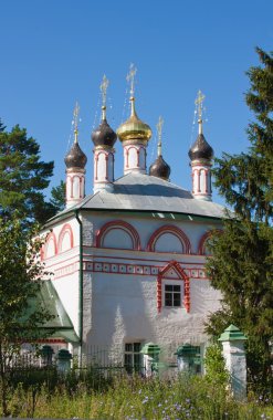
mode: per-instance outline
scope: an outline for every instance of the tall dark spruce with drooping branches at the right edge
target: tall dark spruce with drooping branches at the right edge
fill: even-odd
[[[220,335],[231,323],[242,329],[250,380],[265,385],[272,380],[273,338],[273,53],[256,52],[262,66],[246,73],[245,101],[255,116],[246,130],[250,147],[240,155],[223,154],[213,171],[234,213],[211,240],[207,270],[223,306],[211,315],[207,330]]]

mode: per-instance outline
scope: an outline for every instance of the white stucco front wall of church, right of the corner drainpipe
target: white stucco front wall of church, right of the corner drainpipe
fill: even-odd
[[[95,233],[106,222],[123,220],[133,225],[140,237],[140,251],[118,249],[127,233],[113,230],[106,235],[104,245],[96,249],[85,246],[85,285],[84,285],[84,340],[87,346],[94,344],[114,348],[124,348],[127,342],[154,342],[165,347],[183,343],[202,344],[207,340],[203,333],[206,316],[219,308],[219,292],[210,286],[203,271],[204,256],[198,255],[202,235],[219,224],[193,221],[171,222],[170,220],[119,218],[94,213],[86,214],[86,231],[90,229],[95,243]],[[190,240],[192,254],[179,252],[179,242],[171,244],[171,235],[160,237],[158,252],[147,252],[151,234],[168,224],[181,229]],[[124,234],[124,238],[120,235]],[[165,237],[165,238],[164,238]],[[88,243],[91,243],[88,237]],[[164,244],[166,245],[164,252]],[[175,248],[174,248],[175,246]],[[120,246],[122,248],[122,246]],[[125,246],[123,246],[125,248]],[[177,249],[177,252],[166,252]],[[179,262],[183,270],[197,277],[190,277],[190,312],[185,307],[157,308],[157,274],[150,275],[153,267],[164,269],[171,260]],[[96,266],[96,264],[98,264]],[[120,270],[125,267],[125,272]],[[137,275],[136,270],[141,271]],[[144,270],[149,274],[144,275]],[[101,271],[97,271],[101,270]],[[119,273],[115,273],[119,270]],[[128,273],[128,270],[134,272]],[[86,291],[86,292],[85,292]]]

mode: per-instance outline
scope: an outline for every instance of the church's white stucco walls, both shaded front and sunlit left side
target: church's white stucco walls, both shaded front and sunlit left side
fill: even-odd
[[[154,342],[165,348],[176,348],[183,343],[200,345],[206,343],[203,323],[209,313],[220,304],[220,294],[206,279],[204,256],[199,255],[201,238],[211,229],[219,228],[213,220],[165,220],[106,213],[83,212],[83,339],[86,347],[107,346],[123,351],[129,342]],[[106,230],[101,246],[96,248],[96,235],[105,223],[114,220],[129,223],[139,235],[139,249],[127,228]],[[73,248],[70,234],[73,232]],[[149,252],[148,243],[153,234],[165,225],[179,228],[189,239],[191,253],[181,253],[181,243],[172,233],[162,233],[155,243],[155,252]],[[57,253],[45,259],[45,264],[54,274],[55,286],[63,305],[73,322],[76,333],[80,301],[80,228],[76,219],[56,223],[53,228]],[[60,242],[60,237],[62,241]],[[53,239],[52,239],[53,240]],[[50,245],[52,246],[52,245]],[[53,246],[54,248],[54,246]],[[52,248],[52,249],[53,249]],[[177,261],[190,279],[190,311],[182,307],[164,307],[158,311],[158,272]],[[169,273],[170,283],[177,274]],[[172,279],[172,280],[171,280]],[[164,280],[162,282],[168,280]],[[179,280],[182,285],[185,281]],[[181,287],[183,291],[183,287]],[[183,298],[183,296],[182,296]],[[164,296],[162,296],[164,301]],[[171,350],[172,351],[172,350]]]

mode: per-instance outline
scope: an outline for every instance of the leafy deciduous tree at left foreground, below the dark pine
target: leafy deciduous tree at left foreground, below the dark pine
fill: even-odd
[[[51,318],[36,297],[43,266],[38,254],[42,242],[35,230],[25,231],[22,221],[0,219],[0,400],[8,416],[8,376],[12,358],[23,343],[42,336],[42,325]]]

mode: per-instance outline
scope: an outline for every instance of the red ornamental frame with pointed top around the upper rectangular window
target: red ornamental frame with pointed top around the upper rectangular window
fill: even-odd
[[[176,280],[183,280],[183,306],[187,311],[187,313],[190,312],[190,282],[189,277],[185,273],[185,271],[181,269],[180,264],[177,261],[170,261],[169,264],[167,264],[159,273],[157,277],[157,311],[158,313],[161,312],[162,308],[162,280],[165,279],[165,275],[168,273],[169,270],[175,270],[179,279],[171,279],[174,281]],[[167,277],[168,279],[168,277]]]

